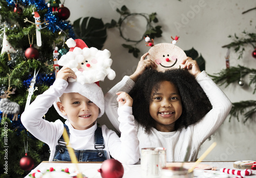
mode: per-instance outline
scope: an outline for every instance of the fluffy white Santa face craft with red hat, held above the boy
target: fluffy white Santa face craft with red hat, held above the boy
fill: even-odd
[[[81,39],[69,38],[66,43],[70,50],[61,56],[58,64],[67,66],[75,72],[77,78],[69,78],[69,82],[77,81],[84,84],[103,81],[106,76],[110,80],[115,78],[116,73],[110,68],[112,59],[109,50],[88,48]]]

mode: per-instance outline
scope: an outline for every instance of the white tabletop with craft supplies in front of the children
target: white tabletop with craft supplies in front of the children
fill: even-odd
[[[82,172],[86,177],[88,178],[101,178],[100,173],[98,172],[98,169],[101,167],[101,162],[79,162],[78,167],[80,172]],[[166,163],[166,166],[173,166],[181,163]],[[184,167],[190,165],[193,165],[193,162],[186,162],[183,164]],[[126,165],[122,164],[124,168],[124,174],[123,178],[141,178],[142,170],[140,163],[137,163],[135,165]],[[48,162],[43,161],[41,162],[35,169],[33,170],[40,170],[41,168],[50,169],[50,167],[53,168],[76,168],[76,165],[70,162]],[[215,168],[216,170],[203,170],[204,168],[211,167]],[[202,168],[202,169],[201,169]],[[221,168],[228,168],[228,169],[234,169],[233,168],[233,161],[231,162],[202,162],[196,169],[194,170],[194,177],[237,177],[235,175],[230,175],[226,173],[222,173],[220,171]],[[237,169],[241,170],[241,169]],[[29,176],[30,175],[30,176]],[[245,177],[245,176],[244,176]],[[256,170],[252,170],[252,174],[248,175],[246,177],[249,178],[256,178]],[[31,178],[31,173],[29,173],[25,178]],[[159,176],[161,178],[161,176]]]

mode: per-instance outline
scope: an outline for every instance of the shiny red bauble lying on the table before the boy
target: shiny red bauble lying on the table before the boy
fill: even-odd
[[[123,165],[115,160],[105,160],[98,169],[102,178],[121,178],[123,176]]]

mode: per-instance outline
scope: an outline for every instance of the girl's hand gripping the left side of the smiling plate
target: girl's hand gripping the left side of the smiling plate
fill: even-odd
[[[137,81],[138,77],[146,70],[150,68],[155,68],[156,64],[150,59],[145,59],[148,53],[145,53],[141,56],[140,61],[138,63],[136,71],[130,76],[133,81]]]

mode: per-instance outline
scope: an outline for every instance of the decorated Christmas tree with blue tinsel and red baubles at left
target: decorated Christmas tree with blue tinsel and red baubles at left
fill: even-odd
[[[0,2],[0,177],[24,177],[49,159],[48,145],[24,128],[20,115],[54,82],[56,61],[68,52],[65,41],[76,39],[69,15],[66,7],[45,0]],[[61,118],[52,107],[45,119]]]

